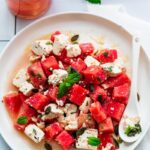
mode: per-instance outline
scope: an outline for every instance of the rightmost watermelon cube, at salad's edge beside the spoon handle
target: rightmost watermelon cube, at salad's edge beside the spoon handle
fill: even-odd
[[[128,83],[125,83],[118,87],[114,87],[113,98],[116,101],[127,104],[129,98],[129,92],[130,92],[130,85]]]

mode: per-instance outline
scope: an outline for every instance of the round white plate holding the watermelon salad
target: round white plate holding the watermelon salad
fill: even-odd
[[[96,15],[87,13],[64,13],[54,16],[45,17],[26,27],[18,33],[13,40],[7,45],[0,57],[0,98],[6,93],[6,82],[16,61],[21,57],[24,49],[37,37],[53,32],[55,30],[73,31],[82,33],[87,36],[104,35],[113,43],[118,45],[119,49],[128,56],[129,63],[131,62],[131,43],[132,35],[125,31],[121,26],[101,18]],[[123,144],[120,149],[134,149],[144,137],[149,123],[149,106],[150,106],[150,63],[144,51],[141,51],[139,72],[139,93],[141,95],[141,112],[143,113],[143,132],[141,138],[133,144]],[[144,108],[144,111],[142,111]],[[0,104],[0,130],[1,134],[14,150],[42,150],[40,146],[35,146],[29,140],[25,140],[14,130],[12,122],[3,105]],[[44,148],[43,148],[44,149]]]

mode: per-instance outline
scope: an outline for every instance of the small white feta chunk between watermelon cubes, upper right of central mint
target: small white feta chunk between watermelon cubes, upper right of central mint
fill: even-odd
[[[87,56],[84,59],[85,64],[90,67],[90,66],[99,66],[100,62],[98,60],[96,60],[95,58],[93,58],[92,56]]]

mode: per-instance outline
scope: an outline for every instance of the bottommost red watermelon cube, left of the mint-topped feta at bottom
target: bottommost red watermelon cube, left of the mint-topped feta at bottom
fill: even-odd
[[[64,150],[68,150],[75,142],[74,138],[67,132],[62,131],[57,137],[56,141],[63,147]]]

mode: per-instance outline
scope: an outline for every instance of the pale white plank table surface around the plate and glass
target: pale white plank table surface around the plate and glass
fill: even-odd
[[[9,42],[9,40],[22,28],[33,22],[34,20],[22,20],[14,17],[7,9],[5,0],[0,0],[0,51]],[[54,14],[66,11],[87,11],[85,0],[52,0],[52,5],[48,12],[44,15]],[[149,0],[102,0],[102,5],[106,4],[122,4],[127,12],[135,17],[150,22],[150,1]],[[143,11],[144,10],[144,11]],[[145,150],[145,145],[148,144],[150,131],[137,150]],[[147,147],[147,146],[146,146]],[[0,136],[0,149],[10,150],[5,141]]]

